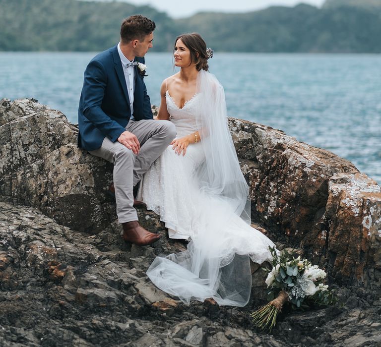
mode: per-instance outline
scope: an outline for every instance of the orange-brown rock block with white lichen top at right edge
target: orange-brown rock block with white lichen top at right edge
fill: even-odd
[[[328,269],[341,283],[381,287],[381,189],[360,173],[329,180],[325,210]]]

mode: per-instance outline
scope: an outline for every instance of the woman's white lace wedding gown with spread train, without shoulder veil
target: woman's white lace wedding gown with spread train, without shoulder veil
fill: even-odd
[[[167,91],[176,138],[199,130],[195,114],[201,99],[196,93],[180,109]],[[185,156],[168,146],[140,183],[137,199],[160,215],[169,236],[191,240],[184,252],[156,257],[147,275],[187,303],[212,297],[220,305],[244,306],[252,285],[249,256],[261,264],[271,258],[268,246],[274,244],[237,215],[229,199],[204,189],[198,175],[205,162],[202,141],[201,136],[190,144]]]

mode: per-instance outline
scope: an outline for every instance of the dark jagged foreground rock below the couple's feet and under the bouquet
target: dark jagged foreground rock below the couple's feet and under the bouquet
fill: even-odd
[[[139,210],[139,218],[165,236],[153,213]],[[338,289],[343,308],[288,315],[272,335],[255,332],[250,324],[257,289],[244,309],[209,301],[187,306],[145,275],[156,254],[182,249],[182,243],[167,237],[152,247],[131,247],[121,241],[115,225],[89,235],[37,209],[0,202],[0,345],[330,347],[381,342],[381,297],[364,289]],[[254,278],[263,284],[261,273]]]

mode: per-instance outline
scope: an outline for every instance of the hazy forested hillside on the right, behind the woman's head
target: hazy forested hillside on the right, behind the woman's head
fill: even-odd
[[[198,13],[181,21],[220,51],[381,52],[381,17],[364,8],[300,4],[245,14]]]

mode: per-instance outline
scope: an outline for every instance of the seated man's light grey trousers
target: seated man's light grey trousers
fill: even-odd
[[[176,136],[175,126],[166,120],[130,120],[126,130],[132,132],[140,143],[138,155],[120,142],[112,142],[107,137],[100,148],[90,151],[92,155],[114,164],[113,179],[119,223],[138,220],[132,206],[133,186]]]

